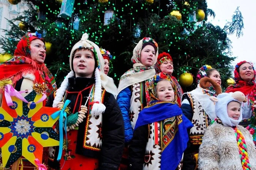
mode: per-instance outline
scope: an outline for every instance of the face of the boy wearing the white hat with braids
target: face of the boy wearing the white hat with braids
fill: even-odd
[[[76,77],[91,78],[93,76],[95,60],[93,52],[89,49],[83,48],[76,50],[73,59],[73,68]]]

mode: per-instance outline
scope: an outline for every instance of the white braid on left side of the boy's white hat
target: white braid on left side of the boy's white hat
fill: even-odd
[[[71,71],[71,72],[68,73],[66,78],[63,80],[63,82],[60,85],[60,88],[56,92],[56,96],[55,96],[55,98],[53,100],[52,107],[57,107],[57,104],[62,101],[63,96],[65,94],[65,91],[68,88],[68,78],[73,77],[73,76],[74,76],[74,72]]]

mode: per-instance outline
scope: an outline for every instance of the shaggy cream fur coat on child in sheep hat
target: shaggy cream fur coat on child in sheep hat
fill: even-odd
[[[251,170],[256,170],[256,150],[252,135],[238,125],[244,135]],[[199,170],[242,170],[235,132],[232,127],[214,122],[204,133],[199,148]]]

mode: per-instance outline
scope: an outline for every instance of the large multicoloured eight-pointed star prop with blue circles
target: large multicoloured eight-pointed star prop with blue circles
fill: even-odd
[[[44,107],[42,94],[30,92],[25,99],[29,103],[11,97],[12,106],[7,106],[3,94],[0,107],[0,147],[2,149],[3,167],[9,167],[21,156],[35,165],[35,159],[42,162],[43,147],[59,145],[59,135],[52,129],[59,119],[50,115],[59,108]]]

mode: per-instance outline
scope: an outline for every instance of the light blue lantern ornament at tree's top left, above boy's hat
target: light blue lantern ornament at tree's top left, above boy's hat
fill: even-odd
[[[75,0],[63,0],[60,8],[60,14],[58,16],[68,19],[68,17],[72,16],[73,7]]]

